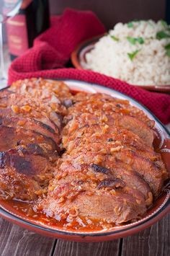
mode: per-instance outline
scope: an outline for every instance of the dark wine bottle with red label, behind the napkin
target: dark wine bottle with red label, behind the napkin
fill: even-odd
[[[11,2],[4,0],[4,6],[8,6]],[[23,0],[17,15],[6,20],[6,34],[11,59],[14,60],[32,47],[35,37],[49,26],[48,0]]]

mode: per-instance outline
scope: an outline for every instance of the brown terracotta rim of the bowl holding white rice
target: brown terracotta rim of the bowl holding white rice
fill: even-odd
[[[84,67],[81,65],[81,62],[79,61],[79,54],[81,53],[81,51],[84,50],[87,46],[90,46],[90,45],[91,45],[91,48],[92,48],[92,45],[97,43],[100,38],[102,38],[104,35],[107,35],[107,34],[108,33],[105,32],[102,35],[97,35],[97,36],[91,37],[91,38],[89,38],[87,40],[82,41],[81,43],[79,43],[76,46],[76,48],[71,53],[71,62],[72,62],[73,66],[76,69],[80,69],[80,70],[84,69]],[[84,70],[91,70],[91,69],[84,69]],[[99,74],[102,74],[102,73],[99,73]],[[114,77],[112,77],[112,78],[114,78]],[[162,86],[156,86],[156,85],[135,85],[135,84],[130,84],[130,85],[132,85],[133,87],[142,88],[142,89],[146,89],[146,90],[154,91],[154,92],[170,92],[170,84],[167,84],[167,85],[165,84],[165,85],[162,85]]]

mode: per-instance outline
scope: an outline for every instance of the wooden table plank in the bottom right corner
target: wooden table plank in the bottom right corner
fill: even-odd
[[[170,214],[157,224],[122,243],[122,256],[168,256],[170,255]]]

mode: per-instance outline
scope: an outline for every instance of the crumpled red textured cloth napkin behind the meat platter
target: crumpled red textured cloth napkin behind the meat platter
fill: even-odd
[[[170,122],[170,95],[147,92],[130,84],[93,71],[64,69],[71,52],[81,41],[105,32],[92,12],[67,9],[61,17],[53,17],[51,27],[36,38],[34,46],[9,68],[9,81],[30,77],[77,79],[117,89],[146,105],[163,123]]]

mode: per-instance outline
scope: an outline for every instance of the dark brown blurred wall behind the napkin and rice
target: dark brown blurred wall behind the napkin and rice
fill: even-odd
[[[90,9],[107,29],[132,19],[169,19],[170,0],[50,0],[50,13],[61,14],[66,7]]]

